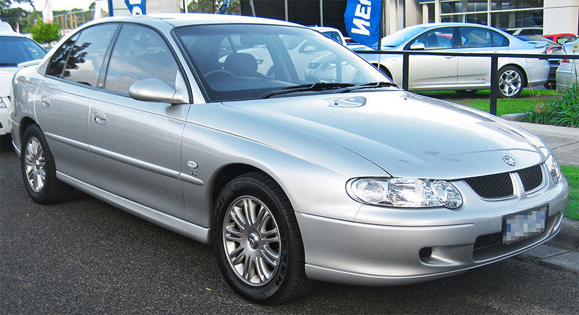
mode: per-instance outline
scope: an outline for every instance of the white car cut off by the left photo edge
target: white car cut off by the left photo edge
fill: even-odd
[[[23,62],[40,60],[45,55],[46,51],[34,40],[12,31],[0,32],[0,135],[10,133],[9,95],[14,74],[21,70]]]

